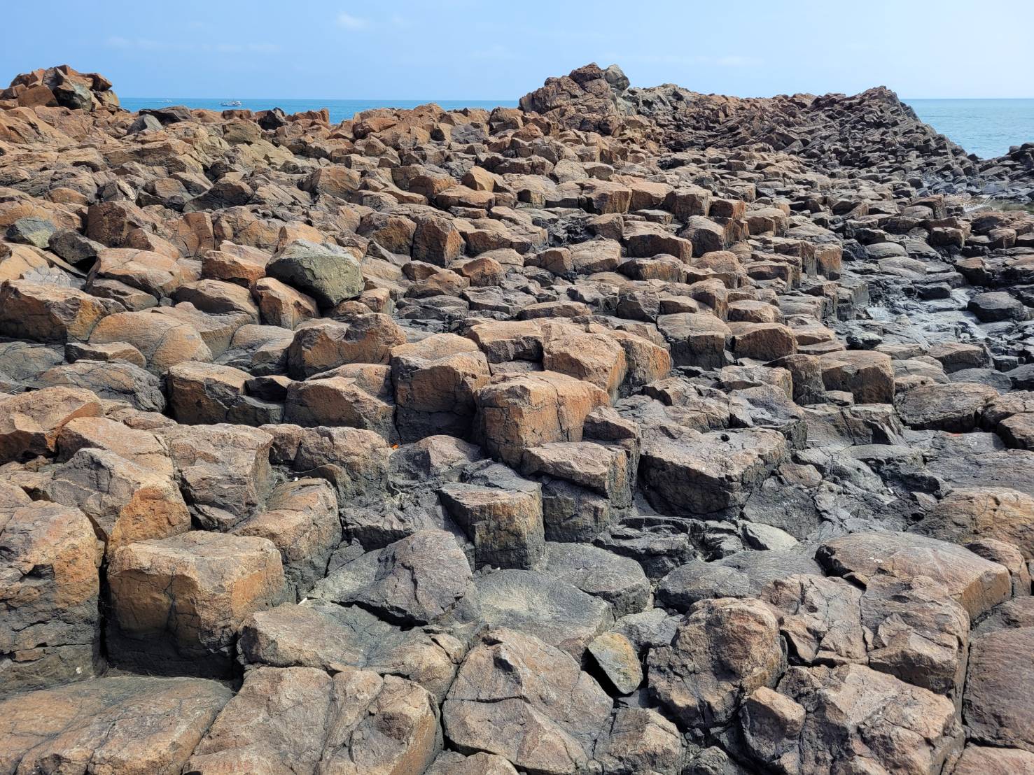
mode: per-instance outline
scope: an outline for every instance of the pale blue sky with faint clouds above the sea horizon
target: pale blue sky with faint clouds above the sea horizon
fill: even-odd
[[[596,61],[742,96],[1034,97],[1032,2],[43,0],[4,8],[0,81],[67,62],[138,97],[517,99]]]

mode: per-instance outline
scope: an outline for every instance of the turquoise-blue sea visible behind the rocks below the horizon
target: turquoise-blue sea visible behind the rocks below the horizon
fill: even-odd
[[[143,107],[186,105],[210,111],[225,111],[222,99],[204,97],[121,97],[122,106],[129,111]],[[235,99],[235,98],[227,98]],[[516,107],[515,100],[506,99],[275,99],[240,98],[241,107],[266,111],[280,107],[285,113],[330,111],[332,123],[351,119],[357,113],[372,107],[416,107],[435,102],[447,111],[461,107],[496,105]],[[1034,143],[1034,99],[906,99],[916,115],[937,131],[981,158],[1001,156],[1010,146]]]

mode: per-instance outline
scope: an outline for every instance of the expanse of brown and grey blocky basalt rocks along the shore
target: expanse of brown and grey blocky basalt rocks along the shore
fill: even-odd
[[[686,94],[16,79],[0,772],[1034,771],[1034,216]]]

